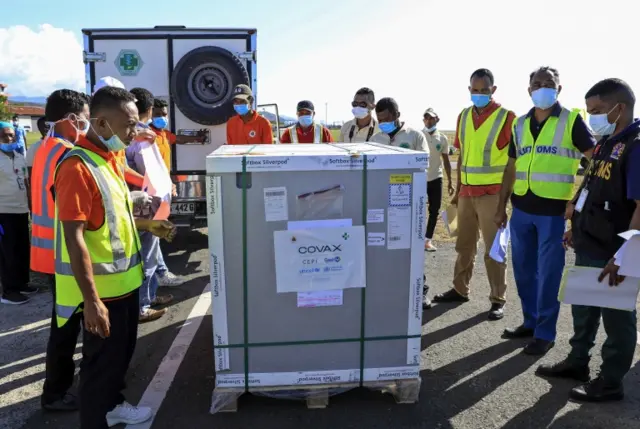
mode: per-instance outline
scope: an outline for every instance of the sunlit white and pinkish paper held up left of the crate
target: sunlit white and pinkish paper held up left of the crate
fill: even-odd
[[[140,143],[140,155],[144,161],[145,174],[142,189],[152,197],[160,198],[160,206],[153,218],[167,220],[171,213],[171,176],[162,160],[156,144]]]

